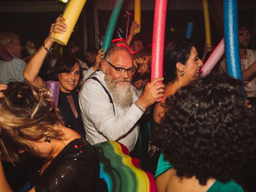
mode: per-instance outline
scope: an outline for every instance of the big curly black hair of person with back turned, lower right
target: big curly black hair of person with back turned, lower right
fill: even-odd
[[[256,120],[242,82],[212,73],[166,99],[163,154],[178,177],[227,182],[256,162]]]

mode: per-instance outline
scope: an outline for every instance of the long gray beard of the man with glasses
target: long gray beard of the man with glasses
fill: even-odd
[[[129,108],[133,103],[131,79],[125,79],[122,76],[118,79],[113,79],[107,70],[104,80],[108,86],[109,92],[113,96],[115,104],[121,106],[123,109]]]

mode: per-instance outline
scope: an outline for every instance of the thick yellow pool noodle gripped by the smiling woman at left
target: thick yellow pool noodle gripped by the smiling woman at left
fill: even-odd
[[[64,33],[54,34],[53,39],[62,45],[66,45],[72,34],[74,26],[78,20],[78,17],[84,7],[86,0],[69,0],[66,10],[64,11],[63,18],[65,19],[64,23],[67,26],[67,31]]]

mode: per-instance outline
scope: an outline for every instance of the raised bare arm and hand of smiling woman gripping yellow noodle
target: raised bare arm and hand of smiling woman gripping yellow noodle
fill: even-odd
[[[50,33],[46,40],[44,40],[44,46],[42,45],[36,54],[30,59],[28,62],[26,68],[24,69],[23,76],[29,84],[32,84],[34,86],[45,86],[46,82],[42,80],[38,76],[39,70],[42,67],[42,64],[44,62],[44,58],[48,54],[48,50],[52,47],[54,44],[53,36],[55,33],[63,33],[66,31],[66,24],[64,23],[65,19],[62,16],[59,16],[56,19],[56,22],[52,24],[50,28]]]

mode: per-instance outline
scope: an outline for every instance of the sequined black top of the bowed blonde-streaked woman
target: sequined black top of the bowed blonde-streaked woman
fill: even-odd
[[[65,146],[40,176],[41,167],[32,176],[36,192],[107,191],[106,182],[99,179],[98,156],[84,138]]]

